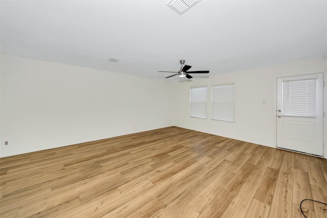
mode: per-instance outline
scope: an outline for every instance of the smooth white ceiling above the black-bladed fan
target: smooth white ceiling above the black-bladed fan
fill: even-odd
[[[213,76],[327,56],[327,1],[167,3],[1,0],[1,52],[160,80],[180,59]]]

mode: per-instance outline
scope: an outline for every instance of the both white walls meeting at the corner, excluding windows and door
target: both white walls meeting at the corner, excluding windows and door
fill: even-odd
[[[275,147],[276,78],[324,71],[326,81],[326,69],[315,58],[171,84],[1,54],[0,157],[168,126]],[[210,119],[210,94],[208,119],[189,116],[190,86],[228,82],[236,83],[235,123]]]

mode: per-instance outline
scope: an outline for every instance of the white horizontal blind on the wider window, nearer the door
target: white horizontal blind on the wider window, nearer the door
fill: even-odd
[[[212,119],[235,122],[235,84],[212,86]]]

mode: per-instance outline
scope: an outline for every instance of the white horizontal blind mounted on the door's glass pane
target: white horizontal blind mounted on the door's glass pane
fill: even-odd
[[[283,81],[282,114],[316,116],[316,79]]]

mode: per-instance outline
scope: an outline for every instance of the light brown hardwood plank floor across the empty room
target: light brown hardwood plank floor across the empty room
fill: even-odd
[[[177,127],[0,164],[0,217],[295,218],[327,202],[326,159]]]

